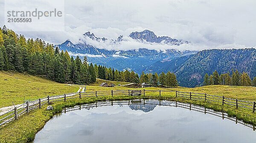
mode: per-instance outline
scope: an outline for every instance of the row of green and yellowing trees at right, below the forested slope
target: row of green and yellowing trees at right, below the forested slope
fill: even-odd
[[[207,73],[205,74],[204,85],[234,85],[256,87],[256,77],[251,80],[248,73],[239,73],[238,70],[233,70],[232,75],[230,75],[229,72],[219,75],[215,70],[210,76]]]

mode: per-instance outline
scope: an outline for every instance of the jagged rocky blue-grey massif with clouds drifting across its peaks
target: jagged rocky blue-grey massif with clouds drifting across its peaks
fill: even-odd
[[[137,40],[137,42],[144,42],[143,40],[146,40],[149,43],[161,42],[168,45],[180,45],[188,43],[187,41],[172,39],[167,36],[157,37],[154,32],[148,30],[142,32],[132,32],[130,37]],[[84,40],[81,40],[83,42],[78,44],[73,44],[71,41],[67,40],[64,43],[55,46],[58,46],[61,50],[67,50],[73,56],[87,56],[89,62],[114,67],[118,70],[130,69],[137,73],[141,73],[142,71],[146,70],[147,67],[151,66],[157,61],[173,59],[183,55],[184,53],[193,54],[193,52],[190,53],[190,51],[182,52],[175,49],[163,51],[149,50],[143,47],[137,50],[106,50],[88,44],[88,40],[93,40],[94,42],[99,43],[105,43],[108,41],[108,43],[118,46],[120,42],[127,39],[123,39],[122,35],[116,40],[106,39],[104,37],[98,38],[90,32],[86,32],[84,34],[84,38]],[[155,46],[157,48],[157,45]]]

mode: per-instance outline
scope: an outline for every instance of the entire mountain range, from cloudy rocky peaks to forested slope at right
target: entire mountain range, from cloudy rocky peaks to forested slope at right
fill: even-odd
[[[168,36],[156,36],[154,32],[149,30],[132,32],[128,38],[124,38],[122,35],[117,39],[99,38],[90,32],[86,32],[83,36],[84,39],[77,44],[67,40],[55,46],[61,50],[67,50],[71,55],[87,56],[89,62],[118,70],[134,70],[138,74],[142,71],[146,73],[171,71],[176,73],[179,84],[185,87],[201,85],[204,74],[211,74],[214,70],[217,70],[218,73],[225,73],[237,69],[240,72],[247,72],[251,78],[256,76],[256,49],[254,48],[191,51],[152,50],[141,47],[135,50],[107,50],[90,43],[91,41],[108,43],[115,47],[124,41],[135,40],[139,43],[155,46],[157,49],[157,46],[163,44],[178,46],[190,42]]]

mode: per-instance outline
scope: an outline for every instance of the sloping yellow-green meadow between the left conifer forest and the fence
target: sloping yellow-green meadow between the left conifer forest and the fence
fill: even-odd
[[[59,84],[36,76],[0,71],[0,107],[22,104],[47,95],[77,92],[79,86]]]

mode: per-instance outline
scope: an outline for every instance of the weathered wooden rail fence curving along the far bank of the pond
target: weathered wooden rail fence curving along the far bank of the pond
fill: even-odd
[[[146,94],[146,91],[150,94]],[[222,105],[228,104],[235,106],[236,108],[242,107],[247,109],[252,109],[255,112],[255,102],[252,101],[241,101],[237,99],[225,98],[224,96],[207,95],[205,93],[191,93],[191,92],[180,92],[172,90],[108,90],[108,91],[90,91],[90,92],[77,92],[68,93],[63,95],[47,96],[44,98],[39,98],[35,101],[27,101],[26,103],[15,106],[14,109],[0,114],[0,126],[9,123],[10,121],[17,120],[21,115],[28,113],[29,111],[37,108],[41,108],[45,104],[50,104],[50,102],[56,101],[67,101],[73,98],[89,98],[89,97],[100,97],[100,96],[159,96],[162,93],[175,93],[175,98],[184,98],[190,100],[200,100],[213,103],[221,103]]]

